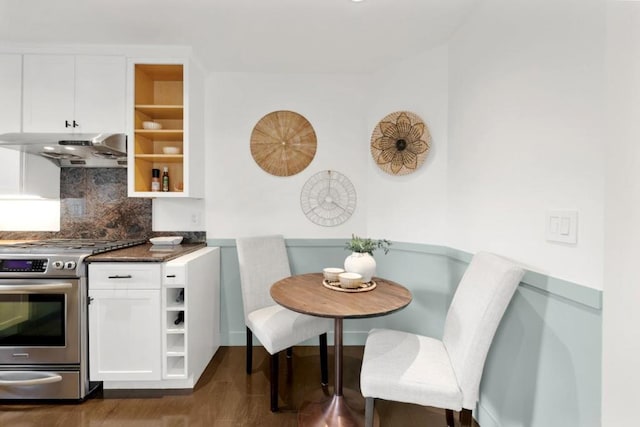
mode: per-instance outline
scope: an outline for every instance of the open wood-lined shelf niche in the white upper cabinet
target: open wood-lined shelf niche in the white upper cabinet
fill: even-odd
[[[152,169],[169,168],[169,194],[181,193],[184,187],[184,65],[134,65],[134,191],[151,192]],[[144,129],[142,123],[153,121],[161,129]],[[164,154],[163,147],[175,146],[180,154]]]

